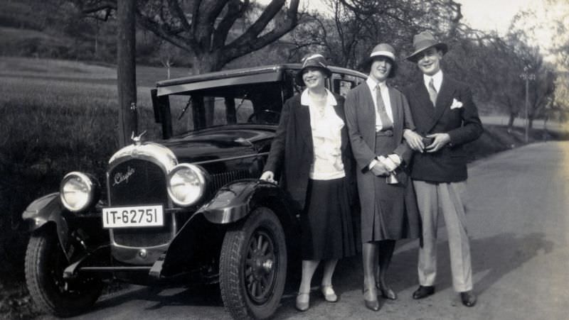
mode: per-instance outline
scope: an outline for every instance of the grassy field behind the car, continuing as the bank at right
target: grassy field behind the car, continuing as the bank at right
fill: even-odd
[[[171,72],[173,77],[187,75],[183,69]],[[149,131],[150,138],[159,131],[149,89],[165,75],[161,68],[137,67],[139,128]],[[0,318],[37,315],[23,280],[29,236],[21,221],[23,209],[57,191],[66,172],[104,175],[117,150],[117,100],[113,66],[0,57]],[[543,137],[541,130],[531,136]],[[484,136],[469,148],[482,158],[521,144],[521,128],[506,133],[504,126],[486,126]]]

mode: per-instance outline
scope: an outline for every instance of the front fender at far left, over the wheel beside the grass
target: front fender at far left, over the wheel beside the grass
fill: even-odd
[[[63,206],[59,199],[59,192],[48,194],[34,200],[23,211],[23,221],[30,221],[30,231],[36,231],[48,223],[55,224],[58,233],[59,243],[65,255],[68,255],[67,248],[69,241],[69,228],[67,221],[63,217]],[[69,258],[69,257],[68,257]]]

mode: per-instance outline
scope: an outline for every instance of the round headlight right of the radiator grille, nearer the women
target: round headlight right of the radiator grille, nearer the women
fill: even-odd
[[[191,206],[206,192],[206,172],[200,167],[182,163],[168,175],[168,194],[175,204]]]

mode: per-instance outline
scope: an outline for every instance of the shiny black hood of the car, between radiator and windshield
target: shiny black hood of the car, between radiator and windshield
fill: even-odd
[[[224,127],[208,128],[156,141],[172,150],[178,162],[220,160],[258,153],[264,141],[275,136],[275,127],[261,128]]]

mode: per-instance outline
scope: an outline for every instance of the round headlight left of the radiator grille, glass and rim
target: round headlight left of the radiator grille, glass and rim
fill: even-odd
[[[69,211],[87,209],[100,197],[100,185],[95,178],[82,172],[69,172],[59,187],[60,199]]]

